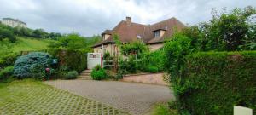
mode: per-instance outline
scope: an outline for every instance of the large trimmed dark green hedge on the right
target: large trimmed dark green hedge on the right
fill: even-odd
[[[232,115],[233,106],[256,114],[256,51],[201,52],[187,56],[174,86],[180,106],[195,115]]]

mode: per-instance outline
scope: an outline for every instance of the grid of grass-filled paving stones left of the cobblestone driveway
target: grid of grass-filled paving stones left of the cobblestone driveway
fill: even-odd
[[[90,100],[79,95],[73,95],[60,89],[33,86],[20,86],[19,90],[9,86],[11,91],[28,92],[14,101],[8,101],[0,106],[0,115],[123,115],[127,112],[120,111],[113,106],[99,101]],[[16,90],[15,90],[16,89]],[[1,97],[0,97],[1,98]],[[111,109],[114,112],[102,112],[103,109]]]

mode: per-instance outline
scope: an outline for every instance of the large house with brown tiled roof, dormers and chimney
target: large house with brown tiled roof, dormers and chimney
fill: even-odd
[[[143,25],[131,21],[131,17],[119,22],[112,30],[102,32],[102,42],[96,43],[92,48],[95,53],[104,53],[108,51],[114,55],[119,51],[116,46],[113,35],[119,36],[121,43],[131,43],[140,40],[146,43],[151,51],[163,47],[166,37],[171,37],[175,31],[180,31],[184,27],[183,23],[176,18],[163,20],[153,25]]]

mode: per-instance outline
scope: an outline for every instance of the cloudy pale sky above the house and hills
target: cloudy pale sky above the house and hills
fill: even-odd
[[[154,24],[176,17],[186,25],[210,20],[219,11],[256,7],[256,0],[0,0],[0,18],[26,22],[46,32],[77,32],[84,37],[113,29],[126,16],[132,22]]]

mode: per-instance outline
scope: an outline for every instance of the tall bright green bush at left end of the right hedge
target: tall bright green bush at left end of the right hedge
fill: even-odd
[[[172,40],[165,44],[164,49],[164,66],[172,75],[171,80],[173,82],[177,82],[177,79],[182,77],[182,72],[185,69],[185,56],[191,54],[197,49],[192,47],[191,39],[189,39],[189,37],[186,37],[180,33],[175,34],[172,37]]]

